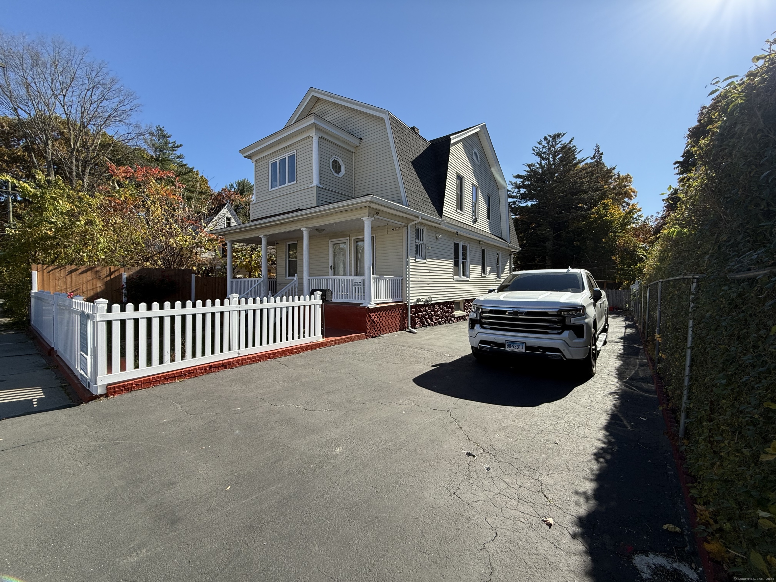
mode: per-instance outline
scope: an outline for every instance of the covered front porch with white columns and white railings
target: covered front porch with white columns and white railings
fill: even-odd
[[[331,300],[363,307],[406,300],[406,217],[362,208],[332,213],[319,207],[307,217],[277,217],[241,225],[227,238],[229,293],[241,297],[310,295],[331,290]],[[371,244],[365,244],[371,241]],[[234,278],[232,244],[262,245],[262,273],[267,248],[275,247],[276,279]]]

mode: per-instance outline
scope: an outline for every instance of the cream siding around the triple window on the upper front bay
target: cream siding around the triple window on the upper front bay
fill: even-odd
[[[269,161],[281,158],[284,154],[296,150],[296,182],[269,189]],[[303,137],[301,140],[282,150],[256,158],[254,162],[256,178],[256,199],[251,204],[251,218],[268,217],[273,214],[289,212],[299,208],[315,206],[315,190],[313,183],[313,138]]]

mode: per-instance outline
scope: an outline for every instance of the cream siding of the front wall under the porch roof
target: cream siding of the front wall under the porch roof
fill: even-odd
[[[388,275],[393,277],[404,276],[404,229],[397,227],[397,230],[391,230],[393,227],[376,227],[372,230],[372,236],[375,237],[375,275]],[[310,276],[326,277],[331,275],[329,270],[329,244],[330,241],[348,239],[348,274],[352,275],[353,268],[353,241],[356,238],[363,238],[363,230],[352,230],[343,233],[334,233],[327,236],[310,237]],[[303,273],[303,248],[302,231],[300,230],[298,238],[292,238],[287,241],[278,241],[277,244],[277,278],[286,282],[286,242],[297,241],[299,243],[299,279],[300,285]],[[452,256],[452,255],[451,255]],[[452,268],[452,267],[451,267]],[[281,282],[278,281],[280,285]],[[286,285],[286,283],[282,283]],[[280,287],[278,287],[280,290]],[[301,293],[301,288],[300,288]]]

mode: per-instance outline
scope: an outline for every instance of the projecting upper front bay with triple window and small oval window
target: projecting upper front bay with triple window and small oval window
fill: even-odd
[[[353,198],[359,137],[311,113],[244,147],[255,170],[251,218]]]

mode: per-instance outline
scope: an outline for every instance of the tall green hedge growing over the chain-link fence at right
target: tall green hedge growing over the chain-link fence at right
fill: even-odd
[[[646,282],[705,273],[684,453],[705,547],[735,573],[776,575],[776,55],[724,88],[688,132],[679,204],[646,268]],[[663,284],[658,369],[679,415],[688,280]],[[654,330],[656,286],[650,293]],[[648,348],[653,352],[654,345]],[[654,352],[653,352],[654,353]],[[776,444],[773,445],[776,452]]]

